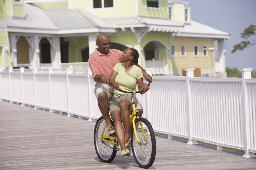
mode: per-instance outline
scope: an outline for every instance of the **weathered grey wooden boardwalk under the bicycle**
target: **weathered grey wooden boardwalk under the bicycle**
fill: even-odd
[[[0,169],[140,169],[133,156],[111,163],[98,159],[95,122],[0,101]],[[157,154],[150,169],[256,169],[256,159],[217,151],[205,145],[156,137]]]

